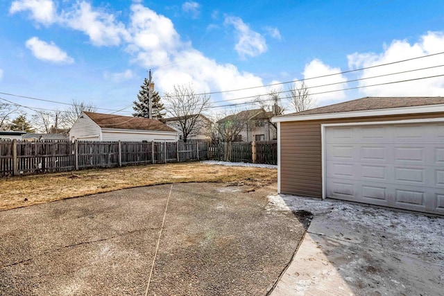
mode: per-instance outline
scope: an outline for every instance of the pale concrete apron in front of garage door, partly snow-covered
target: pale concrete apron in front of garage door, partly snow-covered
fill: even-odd
[[[314,214],[271,295],[443,295],[444,218],[334,200],[268,197]]]

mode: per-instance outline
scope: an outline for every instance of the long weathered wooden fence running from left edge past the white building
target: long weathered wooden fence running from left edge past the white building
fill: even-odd
[[[0,176],[207,159],[207,142],[0,141]]]

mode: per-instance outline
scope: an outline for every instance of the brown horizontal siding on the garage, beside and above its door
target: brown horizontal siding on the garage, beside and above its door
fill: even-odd
[[[442,113],[280,123],[280,193],[322,197],[321,124],[444,117]]]

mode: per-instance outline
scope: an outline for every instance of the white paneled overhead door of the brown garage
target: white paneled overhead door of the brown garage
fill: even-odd
[[[325,128],[327,198],[444,214],[444,123]]]

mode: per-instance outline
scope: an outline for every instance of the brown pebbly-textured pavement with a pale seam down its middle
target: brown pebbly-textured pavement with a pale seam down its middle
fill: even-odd
[[[272,187],[246,189],[150,186],[0,211],[0,295],[145,295],[168,196],[148,295],[266,295],[307,215],[270,209]]]

